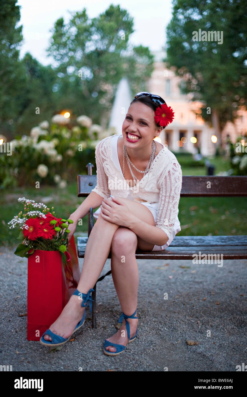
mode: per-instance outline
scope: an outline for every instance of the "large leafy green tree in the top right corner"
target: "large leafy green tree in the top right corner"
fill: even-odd
[[[202,116],[212,122],[219,143],[226,121],[234,121],[237,108],[247,104],[246,20],[243,0],[174,0],[167,27],[164,61],[183,77],[181,92],[205,103]],[[196,41],[199,29],[207,35]],[[222,44],[211,40],[214,35],[209,31],[221,32]]]

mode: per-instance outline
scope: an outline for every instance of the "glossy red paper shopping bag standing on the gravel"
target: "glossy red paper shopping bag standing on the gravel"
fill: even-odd
[[[28,258],[27,276],[27,339],[40,337],[57,319],[77,288],[80,269],[72,236],[63,264],[59,251],[35,250]]]

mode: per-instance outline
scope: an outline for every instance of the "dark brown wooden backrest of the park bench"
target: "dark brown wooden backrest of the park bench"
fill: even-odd
[[[87,164],[89,175],[77,175],[78,197],[88,196],[96,187],[93,164]],[[180,197],[247,196],[247,176],[183,176]]]

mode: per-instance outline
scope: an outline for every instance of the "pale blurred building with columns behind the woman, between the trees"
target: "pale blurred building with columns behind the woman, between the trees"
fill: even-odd
[[[181,78],[167,69],[162,61],[166,54],[164,51],[152,53],[155,56],[154,71],[148,83],[148,91],[160,95],[174,110],[174,120],[160,135],[161,143],[167,144],[173,152],[187,151],[193,154],[198,148],[203,156],[215,154],[217,144],[211,140],[215,131],[201,117],[201,102],[193,102],[190,94],[180,93],[178,85]],[[222,131],[222,143],[227,136],[235,143],[239,135],[247,131],[247,112],[239,110],[239,118],[235,124],[228,122]]]

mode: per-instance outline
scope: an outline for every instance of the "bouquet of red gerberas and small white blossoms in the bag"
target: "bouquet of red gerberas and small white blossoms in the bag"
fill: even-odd
[[[23,240],[22,244],[17,246],[15,255],[29,258],[34,250],[59,251],[63,263],[66,263],[65,253],[70,232],[68,224],[72,224],[73,220],[56,218],[54,207],[49,212],[50,208],[42,202],[36,203],[25,197],[19,198],[18,201],[24,204],[24,212],[20,211],[8,222],[10,229],[19,228],[18,239]]]

